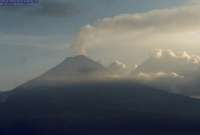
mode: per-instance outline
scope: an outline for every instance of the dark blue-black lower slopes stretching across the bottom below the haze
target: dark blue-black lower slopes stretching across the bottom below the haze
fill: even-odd
[[[197,131],[200,101],[129,81],[16,89],[1,103],[1,134]]]

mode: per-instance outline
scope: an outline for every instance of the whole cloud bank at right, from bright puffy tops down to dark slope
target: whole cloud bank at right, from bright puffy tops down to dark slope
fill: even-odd
[[[199,94],[200,57],[156,49],[131,74],[150,86],[185,95]]]

